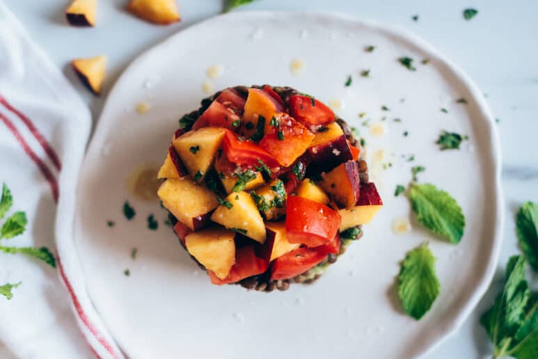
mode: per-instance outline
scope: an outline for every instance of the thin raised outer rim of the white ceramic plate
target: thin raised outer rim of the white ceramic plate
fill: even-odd
[[[489,108],[489,104],[486,102],[486,99],[482,95],[482,91],[478,88],[478,86],[475,84],[475,82],[464,72],[464,70],[461,69],[458,65],[452,63],[450,59],[443,55],[441,51],[438,51],[436,47],[431,45],[426,40],[420,38],[419,35],[416,33],[413,33],[412,31],[408,29],[404,29],[401,26],[393,25],[393,24],[386,24],[383,22],[379,22],[376,20],[371,19],[361,19],[358,17],[354,17],[352,15],[347,15],[344,13],[340,13],[337,11],[274,11],[274,10],[249,10],[249,11],[237,11],[237,12],[230,12],[226,14],[220,14],[213,17],[209,17],[201,22],[197,22],[195,24],[191,24],[190,26],[187,26],[184,29],[180,29],[179,31],[173,33],[168,38],[157,42],[155,45],[152,45],[148,47],[147,49],[143,50],[141,54],[136,56],[134,60],[132,60],[126,67],[125,70],[122,71],[118,79],[116,79],[115,83],[113,84],[111,90],[109,90],[109,93],[106,96],[106,99],[104,101],[104,105],[102,107],[102,111],[100,112],[99,118],[95,124],[95,131],[93,132],[92,136],[90,137],[90,141],[88,141],[88,147],[86,155],[84,156],[84,161],[82,163],[81,172],[79,173],[79,177],[77,179],[77,187],[80,185],[81,181],[84,178],[84,164],[86,161],[88,161],[88,158],[90,157],[90,154],[93,152],[93,140],[97,137],[102,136],[102,132],[104,131],[104,126],[102,125],[103,119],[106,117],[109,117],[108,113],[113,108],[113,105],[111,105],[112,98],[116,97],[116,93],[119,91],[119,88],[122,87],[122,83],[125,81],[128,81],[129,75],[131,72],[134,72],[136,67],[139,66],[139,63],[143,63],[146,61],[146,58],[150,57],[151,54],[158,50],[161,47],[166,47],[168,42],[172,42],[175,40],[175,38],[189,36],[190,33],[193,30],[198,29],[199,27],[207,26],[207,24],[212,22],[218,22],[222,21],[222,19],[230,18],[230,19],[236,19],[239,21],[244,20],[244,18],[255,18],[255,17],[274,17],[274,16],[280,16],[280,17],[310,17],[311,19],[326,19],[329,21],[339,20],[342,22],[347,23],[353,23],[356,26],[365,26],[366,28],[374,29],[376,31],[380,31],[381,33],[386,33],[387,35],[391,35],[399,40],[402,40],[406,42],[409,45],[413,45],[421,49],[422,51],[427,52],[430,57],[436,58],[436,61],[444,65],[449,71],[450,74],[457,79],[461,85],[463,85],[466,90],[470,93],[470,95],[473,97],[477,104],[477,111],[480,111],[482,113],[482,119],[480,119],[481,127],[483,127],[484,131],[486,133],[484,136],[489,137],[489,143],[487,143],[486,140],[484,140],[484,143],[489,145],[489,159],[487,161],[491,165],[491,169],[495,173],[494,176],[494,186],[492,188],[492,191],[495,195],[495,200],[492,201],[495,204],[494,212],[494,220],[496,221],[496,225],[493,228],[493,238],[491,240],[491,255],[488,257],[488,263],[484,268],[484,272],[482,273],[482,276],[480,276],[480,280],[477,281],[477,286],[475,287],[475,290],[470,294],[470,296],[466,296],[466,302],[464,305],[459,305],[459,308],[457,310],[457,315],[454,315],[450,317],[449,319],[445,319],[442,323],[442,330],[438,331],[435,335],[433,335],[433,338],[431,340],[426,340],[420,343],[416,343],[416,345],[413,347],[412,351],[409,351],[409,353],[412,353],[413,356],[423,356],[441,345],[445,340],[447,340],[448,337],[453,335],[459,328],[461,328],[464,321],[469,317],[470,313],[473,312],[473,310],[476,308],[478,302],[480,299],[484,296],[486,290],[488,289],[491,280],[493,280],[493,276],[495,274],[496,268],[498,266],[498,260],[500,257],[500,248],[503,241],[503,230],[504,230],[504,218],[505,218],[505,207],[503,205],[503,191],[501,186],[501,170],[502,170],[502,156],[501,156],[501,148],[500,148],[500,136],[498,134],[498,129],[496,128],[494,124],[494,117],[493,113],[491,112],[491,109]],[[485,119],[485,120],[484,120]],[[106,133],[105,133],[106,134]],[[77,200],[78,202],[78,200]],[[78,208],[75,207],[75,209]],[[74,221],[77,221],[77,215],[74,214]],[[76,227],[76,225],[74,226]],[[77,246],[75,245],[75,252],[76,255],[79,256],[79,252],[77,250]],[[81,266],[81,264],[79,264]],[[81,268],[82,270],[82,268]],[[84,273],[84,271],[82,271]],[[90,291],[86,285],[86,280],[84,279],[84,287],[86,289],[86,292],[88,293],[88,296],[91,298]],[[99,313],[99,316],[101,317],[101,314]],[[440,324],[441,325],[441,324]]]

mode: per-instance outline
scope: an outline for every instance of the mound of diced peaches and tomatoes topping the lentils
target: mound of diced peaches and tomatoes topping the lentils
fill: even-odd
[[[345,123],[309,95],[227,88],[180,125],[158,195],[213,284],[301,276],[383,205]]]

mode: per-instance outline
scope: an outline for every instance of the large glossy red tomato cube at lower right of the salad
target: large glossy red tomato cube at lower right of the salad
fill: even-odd
[[[290,243],[322,246],[334,239],[340,221],[340,214],[326,205],[298,196],[287,199],[286,235]]]

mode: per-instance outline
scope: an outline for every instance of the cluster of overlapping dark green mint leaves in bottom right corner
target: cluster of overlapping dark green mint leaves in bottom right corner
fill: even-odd
[[[525,266],[523,256],[510,257],[503,292],[480,317],[495,358],[531,359],[538,352],[538,293],[530,293]]]

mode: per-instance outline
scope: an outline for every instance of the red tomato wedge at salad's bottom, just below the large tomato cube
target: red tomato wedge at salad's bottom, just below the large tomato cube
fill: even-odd
[[[327,256],[315,248],[300,247],[276,258],[271,265],[271,280],[289,279],[308,271]]]

